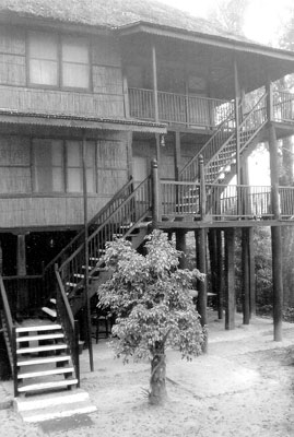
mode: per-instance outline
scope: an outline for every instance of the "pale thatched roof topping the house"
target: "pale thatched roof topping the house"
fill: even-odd
[[[215,27],[207,20],[154,0],[0,0],[0,14],[3,13],[110,28],[142,21],[203,35],[247,40]]]

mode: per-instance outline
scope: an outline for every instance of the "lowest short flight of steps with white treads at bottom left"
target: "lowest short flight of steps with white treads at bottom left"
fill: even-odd
[[[17,393],[35,393],[77,387],[74,367],[61,324],[48,320],[17,326]]]

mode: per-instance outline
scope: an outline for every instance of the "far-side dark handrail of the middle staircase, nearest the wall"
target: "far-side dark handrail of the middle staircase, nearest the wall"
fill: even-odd
[[[90,228],[92,225],[94,225],[97,222],[103,222],[107,215],[110,215],[111,211],[116,208],[116,204],[120,199],[125,199],[127,193],[129,193],[130,190],[132,190],[132,185],[133,185],[133,179],[130,178],[127,184],[124,185],[124,187],[116,192],[116,194],[102,208],[102,210],[94,215],[93,218],[90,220],[87,223],[87,227]],[[77,250],[75,248],[78,246],[81,246],[84,244],[84,233],[85,229],[84,227],[75,235],[73,239],[70,240],[70,243],[63,247],[63,249],[44,268],[43,270],[43,283],[44,283],[44,288],[47,285],[47,281],[49,277],[54,277],[54,270],[55,270],[55,264],[57,263],[60,265],[62,263],[62,257],[66,256],[68,252],[72,253],[72,251]],[[46,281],[47,279],[47,281]],[[43,291],[43,298],[46,300],[48,298],[49,293],[46,293],[46,291]]]

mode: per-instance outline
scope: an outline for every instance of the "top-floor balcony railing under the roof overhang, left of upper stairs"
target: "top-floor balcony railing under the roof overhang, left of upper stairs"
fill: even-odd
[[[225,120],[232,108],[232,102],[219,98],[189,96],[157,92],[158,118],[167,123],[188,127],[215,128]],[[154,94],[152,90],[129,88],[130,116],[154,120]]]

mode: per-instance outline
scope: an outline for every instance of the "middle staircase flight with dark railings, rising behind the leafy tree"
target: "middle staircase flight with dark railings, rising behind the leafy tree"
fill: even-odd
[[[137,249],[150,231],[151,178],[133,189],[132,180],[99,211],[70,244],[45,268],[46,304],[43,311],[51,319],[57,317],[56,293],[62,287],[74,315],[84,307],[85,275],[87,273],[90,298],[106,280],[103,256],[105,244],[116,238],[131,240]],[[85,247],[85,240],[86,247]],[[56,277],[58,276],[58,281]],[[55,292],[52,290],[55,287]]]

